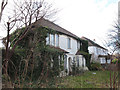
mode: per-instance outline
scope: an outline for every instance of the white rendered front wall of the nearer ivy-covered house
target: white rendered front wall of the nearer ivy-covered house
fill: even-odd
[[[51,34],[50,34],[51,37]],[[71,40],[71,48],[68,48],[68,38],[70,38]],[[51,44],[51,38],[50,38],[50,45]],[[56,47],[56,34],[55,34],[55,45]],[[71,58],[71,65],[73,63],[73,58],[75,58],[75,62],[77,64],[76,58],[79,57],[79,67],[86,67],[86,60],[82,55],[76,55],[77,51],[78,51],[78,47],[77,47],[77,40],[69,37],[67,35],[61,35],[59,34],[59,48],[69,52],[67,53],[67,59],[64,61],[64,68],[68,70],[69,72],[69,58]],[[82,66],[82,64],[84,64]]]

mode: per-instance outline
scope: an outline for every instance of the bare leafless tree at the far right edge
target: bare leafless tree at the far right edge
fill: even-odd
[[[111,30],[109,34],[108,46],[110,47],[112,51],[111,56],[113,56],[113,54],[115,53],[118,54],[118,56],[115,56],[115,59],[113,60],[113,62],[115,61],[114,63],[118,67],[118,74],[116,75],[116,72],[114,72],[113,87],[112,87],[111,71],[110,71],[110,87],[115,88],[117,78],[119,79],[118,87],[120,85],[120,56],[119,56],[120,55],[120,24],[119,23],[115,23],[114,30]],[[111,58],[111,60],[112,59],[113,58]],[[116,62],[116,60],[118,61]]]

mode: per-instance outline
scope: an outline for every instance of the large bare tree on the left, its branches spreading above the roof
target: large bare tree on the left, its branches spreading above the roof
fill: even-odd
[[[56,10],[52,9],[52,4],[48,4],[44,0],[40,0],[37,2],[36,0],[30,0],[27,2],[26,0],[14,1],[15,9],[13,10],[14,14],[9,16],[8,21],[6,21],[7,28],[7,37],[3,39],[3,43],[6,47],[5,50],[5,59],[3,63],[4,74],[8,76],[8,63],[10,62],[10,58],[13,55],[17,44],[26,36],[28,31],[34,28],[34,23],[38,19],[47,18],[50,19],[56,13]],[[13,30],[24,30],[18,32],[16,38],[13,41],[11,40],[10,33]]]

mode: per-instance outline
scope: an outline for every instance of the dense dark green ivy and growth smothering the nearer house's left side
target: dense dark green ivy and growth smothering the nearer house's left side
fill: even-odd
[[[24,28],[11,34],[10,42],[12,44],[15,43],[14,39],[19,37],[23,30]],[[60,71],[64,69],[64,52],[46,45],[47,33],[57,34],[58,32],[47,27],[35,27],[29,30],[18,43],[11,57],[12,63],[9,63],[8,66],[9,74],[14,80],[17,77],[26,80],[30,78],[45,80],[47,77],[58,76]]]

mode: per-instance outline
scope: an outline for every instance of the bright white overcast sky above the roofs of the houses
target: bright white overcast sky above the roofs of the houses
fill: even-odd
[[[95,39],[102,46],[109,30],[113,29],[112,25],[117,20],[118,1],[49,0],[60,10],[56,15],[56,24],[79,37]],[[5,33],[0,31],[0,36],[5,36]]]

